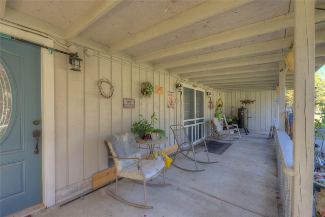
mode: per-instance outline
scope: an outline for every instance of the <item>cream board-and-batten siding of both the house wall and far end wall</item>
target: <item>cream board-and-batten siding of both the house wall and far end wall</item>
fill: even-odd
[[[82,194],[92,188],[92,175],[108,168],[104,140],[114,133],[131,132],[139,114],[147,120],[153,112],[158,121],[155,128],[164,129],[169,141],[161,148],[175,144],[170,125],[181,123],[180,93],[176,89],[178,78],[160,73],[147,66],[135,64],[132,58],[119,58],[94,53],[88,57],[82,48],[78,50],[81,71],[70,70],[67,55],[54,52],[55,96],[55,191],[56,202]],[[99,57],[101,56],[101,57]],[[108,79],[114,94],[106,99],[100,95],[97,83]],[[140,99],[141,83],[149,81],[163,87],[163,94],[153,93],[150,98]],[[109,94],[109,85],[102,83]],[[174,92],[175,109],[168,108],[167,92]],[[212,93],[211,108],[206,92]],[[205,133],[211,134],[211,119],[215,102],[222,98],[223,112],[234,115],[241,107],[240,100],[256,100],[247,105],[248,129],[268,131],[274,117],[275,91],[229,92],[205,88]],[[135,108],[123,108],[123,98],[134,98]],[[146,150],[141,150],[146,154]]]

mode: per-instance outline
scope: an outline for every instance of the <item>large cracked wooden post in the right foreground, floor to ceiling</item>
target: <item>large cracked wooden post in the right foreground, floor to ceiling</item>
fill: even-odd
[[[294,184],[291,216],[312,216],[315,1],[294,1]]]

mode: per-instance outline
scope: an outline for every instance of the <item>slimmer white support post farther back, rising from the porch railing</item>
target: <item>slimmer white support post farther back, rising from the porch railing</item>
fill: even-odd
[[[278,112],[278,121],[279,121],[279,130],[285,129],[285,121],[284,121],[284,114],[285,114],[285,63],[284,60],[279,62],[279,112]]]

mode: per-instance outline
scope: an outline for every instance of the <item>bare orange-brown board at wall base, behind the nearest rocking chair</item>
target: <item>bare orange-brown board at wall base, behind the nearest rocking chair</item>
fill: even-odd
[[[175,153],[178,149],[177,144],[173,144],[173,146],[169,146],[161,149],[166,155],[171,155]],[[142,159],[147,158],[147,155],[141,156]],[[95,173],[92,175],[92,189],[96,189],[102,187],[109,182],[115,181],[116,178],[116,170],[115,167],[108,168],[101,172]]]

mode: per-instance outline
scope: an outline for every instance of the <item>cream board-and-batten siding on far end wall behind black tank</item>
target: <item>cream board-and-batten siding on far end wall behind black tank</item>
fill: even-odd
[[[275,115],[276,92],[275,90],[262,91],[231,91],[222,92],[222,111],[225,116],[231,114],[238,118],[238,108],[247,108],[247,129],[257,133],[269,133],[273,126]],[[254,103],[242,104],[241,100],[255,100]]]

